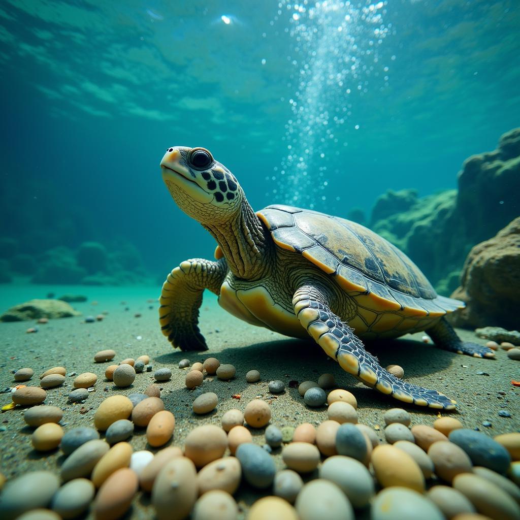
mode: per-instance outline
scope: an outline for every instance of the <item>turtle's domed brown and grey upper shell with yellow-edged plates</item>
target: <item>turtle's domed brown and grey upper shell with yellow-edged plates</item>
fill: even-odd
[[[285,205],[257,213],[283,249],[301,253],[352,294],[370,294],[389,309],[440,316],[463,307],[438,296],[421,270],[383,237],[360,224]]]

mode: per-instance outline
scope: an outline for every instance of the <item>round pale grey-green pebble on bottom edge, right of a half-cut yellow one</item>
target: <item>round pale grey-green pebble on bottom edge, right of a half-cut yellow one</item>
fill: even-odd
[[[354,520],[354,511],[345,493],[323,478],[311,480],[303,486],[295,508],[300,520]]]

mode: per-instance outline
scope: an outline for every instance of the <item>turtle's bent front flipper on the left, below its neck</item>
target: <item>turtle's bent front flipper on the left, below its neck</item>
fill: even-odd
[[[200,333],[199,308],[204,289],[218,294],[227,274],[225,259],[194,258],[176,267],[163,284],[159,302],[162,333],[181,350],[207,350]]]

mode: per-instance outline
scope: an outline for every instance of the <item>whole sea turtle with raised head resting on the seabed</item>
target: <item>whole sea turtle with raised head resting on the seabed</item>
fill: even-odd
[[[218,244],[214,260],[181,262],[163,284],[159,320],[174,347],[207,349],[198,326],[207,289],[233,316],[310,336],[362,383],[409,404],[456,407],[443,393],[386,371],[363,341],[425,331],[437,347],[494,357],[485,346],[463,342],[446,320],[464,303],[437,295],[406,254],[370,229],[281,204],[255,213],[235,175],[206,148],[168,148],[161,172],[180,209]]]

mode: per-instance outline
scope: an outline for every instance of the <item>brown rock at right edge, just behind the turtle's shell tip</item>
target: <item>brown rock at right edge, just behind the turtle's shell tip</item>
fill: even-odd
[[[461,287],[453,294],[466,308],[450,316],[456,327],[475,328],[489,323],[513,329],[518,325],[520,289],[520,217],[476,245],[466,258]]]

